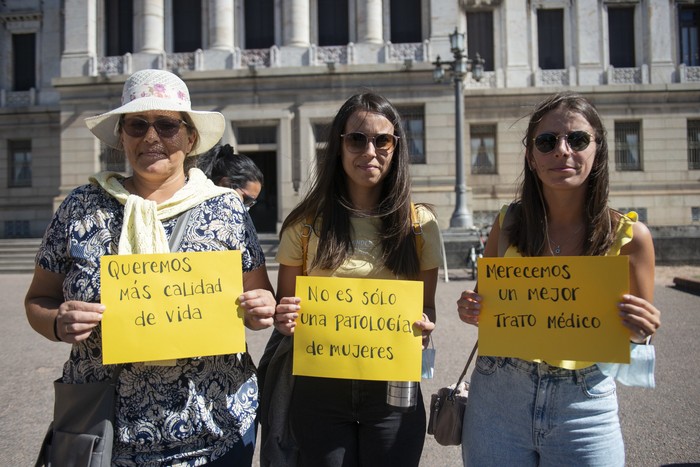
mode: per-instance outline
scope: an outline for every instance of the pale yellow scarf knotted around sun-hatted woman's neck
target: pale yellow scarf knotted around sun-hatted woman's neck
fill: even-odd
[[[214,185],[197,168],[189,171],[189,181],[172,198],[160,204],[129,193],[120,180],[121,174],[100,172],[90,177],[90,182],[101,186],[124,205],[124,223],[119,237],[117,254],[169,253],[168,237],[163,220],[170,219],[202,202],[230,193],[229,188]]]

